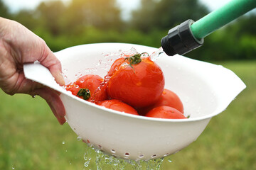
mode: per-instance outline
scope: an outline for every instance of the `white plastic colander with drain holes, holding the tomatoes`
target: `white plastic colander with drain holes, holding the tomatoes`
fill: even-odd
[[[156,48],[124,43],[99,43],[69,47],[55,55],[67,83],[84,74],[104,77],[119,50],[134,47],[151,54]],[[103,152],[124,159],[155,159],[174,154],[195,141],[210,118],[227,108],[245,84],[229,69],[180,55],[156,60],[164,72],[165,88],[181,98],[186,120],[146,118],[112,111],[84,101],[55,83],[46,67],[24,65],[27,79],[60,91],[65,118],[74,132]],[[232,116],[232,115],[230,115]]]

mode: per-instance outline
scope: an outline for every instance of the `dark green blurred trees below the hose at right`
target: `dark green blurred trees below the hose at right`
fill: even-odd
[[[198,60],[256,60],[256,14],[208,35],[202,47],[187,54]]]

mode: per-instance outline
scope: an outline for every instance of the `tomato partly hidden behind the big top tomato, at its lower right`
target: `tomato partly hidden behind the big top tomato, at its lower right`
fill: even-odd
[[[161,97],[159,98],[159,101],[146,108],[139,108],[139,114],[144,115],[145,113],[148,113],[152,108],[156,108],[158,106],[170,106],[172,108],[176,108],[181,113],[184,113],[181,99],[173,91],[164,89]]]

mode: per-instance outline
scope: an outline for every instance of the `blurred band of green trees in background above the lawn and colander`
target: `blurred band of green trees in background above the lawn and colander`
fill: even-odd
[[[128,42],[160,47],[169,29],[186,21],[197,21],[209,13],[198,0],[142,0],[124,21],[115,0],[42,2],[34,10],[10,13],[0,0],[0,16],[22,23],[54,52],[73,45],[95,42]],[[187,56],[198,60],[255,60],[256,14],[237,21],[205,38],[203,47]]]

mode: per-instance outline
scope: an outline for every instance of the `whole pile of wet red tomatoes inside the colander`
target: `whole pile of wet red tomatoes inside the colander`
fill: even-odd
[[[73,95],[99,106],[153,118],[186,118],[178,96],[164,89],[164,74],[150,57],[123,54],[102,79],[95,74],[65,86]]]

